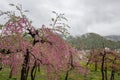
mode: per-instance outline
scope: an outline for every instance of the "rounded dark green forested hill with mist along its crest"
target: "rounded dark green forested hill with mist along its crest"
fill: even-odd
[[[110,49],[120,48],[120,41],[108,40],[96,33],[87,33],[76,37],[69,36],[67,41],[77,49],[103,48],[103,45]]]

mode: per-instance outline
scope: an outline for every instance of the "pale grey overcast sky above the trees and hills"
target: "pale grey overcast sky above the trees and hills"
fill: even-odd
[[[71,35],[120,35],[120,0],[0,0],[0,10],[9,10],[9,3],[29,10],[35,27],[49,25],[52,11],[56,11],[65,13]]]

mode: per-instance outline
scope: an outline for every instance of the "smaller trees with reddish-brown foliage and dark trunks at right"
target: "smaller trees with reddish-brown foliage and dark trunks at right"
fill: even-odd
[[[115,73],[120,73],[120,55],[110,50],[91,50],[86,65],[91,64],[95,71],[100,69],[102,80],[116,80]]]

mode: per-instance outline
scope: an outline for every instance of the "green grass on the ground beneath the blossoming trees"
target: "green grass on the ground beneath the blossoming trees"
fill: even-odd
[[[16,74],[13,78],[9,79],[9,68],[4,68],[0,71],[0,80],[20,80],[20,74]],[[46,80],[46,73],[44,71],[37,72],[36,80]],[[65,73],[59,74],[59,80],[64,80]],[[28,77],[30,79],[30,75]],[[92,68],[87,75],[81,75],[77,73],[75,70],[69,73],[68,80],[101,80],[101,72],[100,70],[94,71]],[[110,71],[108,71],[108,80],[110,80]],[[120,75],[115,74],[115,80],[120,80]]]

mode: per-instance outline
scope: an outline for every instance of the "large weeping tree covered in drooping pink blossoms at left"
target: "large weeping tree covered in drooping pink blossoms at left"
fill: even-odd
[[[36,29],[23,14],[26,10],[23,11],[21,6],[10,5],[15,6],[20,15],[1,11],[1,16],[7,15],[8,20],[1,28],[0,61],[3,68],[10,66],[9,78],[21,71],[21,80],[27,80],[28,74],[31,80],[35,80],[36,71],[41,71],[41,66],[46,67],[47,80],[51,80],[50,73],[54,75],[52,80],[58,80],[61,71],[66,72],[67,80],[69,72],[75,68],[85,73],[86,70],[75,57],[78,55],[77,50],[58,35],[58,31],[62,32],[64,28],[55,30],[57,19],[54,29],[45,25]]]

